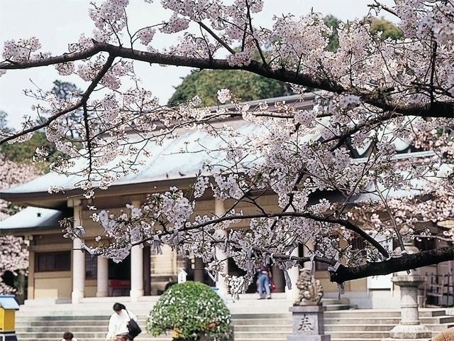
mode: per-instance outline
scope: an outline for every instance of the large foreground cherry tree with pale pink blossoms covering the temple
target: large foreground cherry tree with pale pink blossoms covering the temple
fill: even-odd
[[[62,55],[43,52],[36,37],[5,42],[0,73],[53,65],[60,75],[78,75],[88,86],[63,101],[50,92],[28,92],[41,121],[25,121],[16,133],[3,131],[0,143],[20,143],[45,129],[49,141],[69,156],[52,169],[84,175],[86,180],[74,185],[87,197],[137,170],[140,156],[153,154],[153,146],[187,129],[222,141],[218,152],[226,162],[207,163],[192,190],[150,194],[142,206],[128,205],[119,216],[97,212],[93,219],[110,244],[89,251],[120,261],[131,245],[149,243],[159,252],[169,244],[201,257],[217,273],[221,260],[214,249],[221,247],[246,271],[243,278],[230,278],[235,290],[247,286],[254,269],[271,259],[284,274],[304,261],[324,262],[337,283],[453,259],[450,231],[433,236],[450,242],[446,247],[404,251],[411,231],[426,233],[414,224],[454,215],[452,205],[437,204],[453,200],[452,1],[399,0],[392,7],[373,1],[366,18],[338,27],[336,52],[327,50],[332,28],[321,13],[301,18],[276,13],[272,26],[262,27],[255,24],[261,0],[162,0],[160,6],[172,15],[137,28],[128,18],[128,2],[94,4],[92,36],[69,42]],[[396,17],[403,38],[371,33],[372,19],[384,11]],[[179,42],[157,50],[153,39],[166,34],[179,35]],[[301,100],[318,92],[312,109],[285,102],[250,107],[227,89],[218,90],[218,101],[231,107],[201,107],[198,97],[165,107],[141,85],[134,69],[140,62],[253,72],[289,83]],[[81,109],[80,119],[67,126],[66,117]],[[232,119],[258,130],[241,134]],[[78,132],[77,141],[69,131]],[[419,153],[400,157],[399,141],[409,141]],[[358,149],[368,152],[355,158]],[[39,155],[45,151],[38,150]],[[72,158],[86,162],[74,168]],[[402,191],[413,195],[394,195]],[[269,194],[277,197],[278,210],[260,205],[260,197]],[[226,202],[226,213],[194,215],[202,195]],[[367,200],[357,205],[358,197]],[[239,210],[242,203],[253,212]],[[233,228],[242,221],[248,229]],[[69,236],[83,236],[83,227],[63,224]],[[396,239],[399,253],[384,249],[373,237],[377,233]],[[355,256],[352,245],[358,238],[373,261]],[[299,244],[319,247],[308,247],[311,256],[292,256]]]

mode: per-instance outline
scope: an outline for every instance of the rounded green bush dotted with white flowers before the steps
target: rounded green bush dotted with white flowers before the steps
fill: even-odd
[[[168,288],[147,319],[157,336],[172,330],[174,340],[230,340],[231,315],[222,299],[206,284],[185,282]]]

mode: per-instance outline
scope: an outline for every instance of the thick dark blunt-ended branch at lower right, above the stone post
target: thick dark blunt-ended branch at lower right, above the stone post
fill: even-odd
[[[343,283],[353,279],[369,276],[387,275],[393,272],[418,269],[454,259],[454,246],[441,247],[438,249],[420,251],[416,254],[404,254],[399,258],[392,258],[387,261],[367,263],[360,266],[347,267],[339,266],[336,272],[330,272],[331,282]]]

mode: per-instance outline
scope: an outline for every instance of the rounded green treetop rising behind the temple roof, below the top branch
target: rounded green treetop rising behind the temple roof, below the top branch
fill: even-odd
[[[232,90],[242,101],[292,94],[291,88],[286,83],[253,73],[240,70],[201,70],[192,71],[183,78],[182,84],[175,88],[169,103],[187,102],[198,94],[203,105],[216,105],[217,90],[225,88]]]

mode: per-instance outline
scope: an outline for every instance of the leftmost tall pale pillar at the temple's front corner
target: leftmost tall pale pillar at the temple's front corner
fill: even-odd
[[[74,206],[74,227],[82,224],[82,207]],[[72,303],[79,303],[84,297],[85,288],[85,254],[81,251],[82,240],[75,238],[72,240]]]

